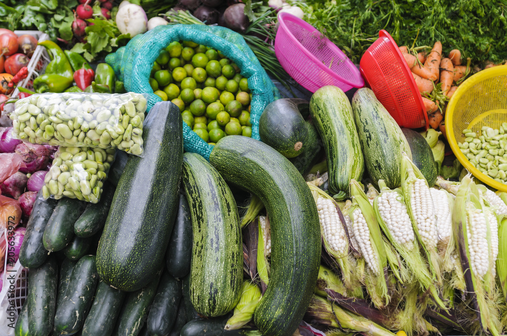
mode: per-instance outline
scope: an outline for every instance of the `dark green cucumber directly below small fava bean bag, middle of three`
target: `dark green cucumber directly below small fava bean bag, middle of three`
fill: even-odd
[[[86,202],[63,197],[44,229],[42,241],[50,252],[62,250],[74,237],[74,223],[83,213]]]

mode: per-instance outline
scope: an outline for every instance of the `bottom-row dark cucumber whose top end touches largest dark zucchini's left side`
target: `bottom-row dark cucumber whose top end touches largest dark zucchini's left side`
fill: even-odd
[[[97,282],[95,256],[84,256],[74,266],[65,297],[56,308],[56,332],[71,335],[81,330],[90,310]]]

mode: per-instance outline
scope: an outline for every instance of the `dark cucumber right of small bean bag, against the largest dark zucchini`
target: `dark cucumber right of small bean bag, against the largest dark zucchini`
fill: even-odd
[[[104,227],[107,213],[115,195],[115,187],[106,182],[103,190],[98,203],[89,203],[74,223],[74,233],[78,237],[91,237]]]

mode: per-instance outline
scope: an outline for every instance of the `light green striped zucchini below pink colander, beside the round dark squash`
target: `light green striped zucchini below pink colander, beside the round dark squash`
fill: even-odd
[[[343,200],[350,180],[360,181],[365,171],[349,99],[337,87],[322,87],[310,99],[310,113],[327,155],[329,191],[333,197]]]

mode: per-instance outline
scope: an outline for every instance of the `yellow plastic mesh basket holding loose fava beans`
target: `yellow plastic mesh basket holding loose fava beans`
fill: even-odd
[[[454,155],[476,178],[492,188],[507,192],[507,185],[481,173],[461,153],[464,129],[481,135],[481,128],[500,128],[507,122],[507,65],[495,66],[466,79],[452,95],[445,115],[445,130]]]

